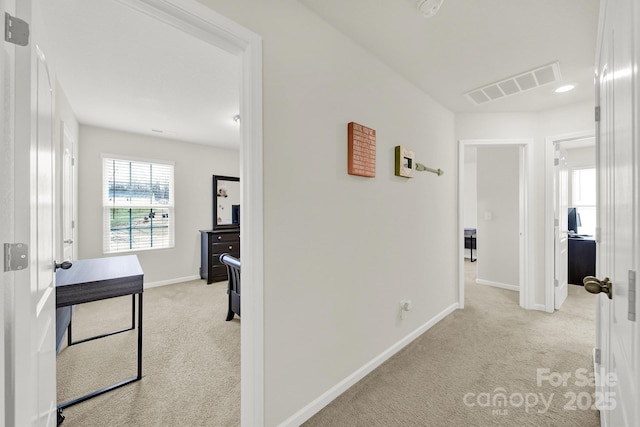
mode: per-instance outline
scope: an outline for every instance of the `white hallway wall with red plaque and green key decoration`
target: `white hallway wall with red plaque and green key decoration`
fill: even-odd
[[[265,419],[274,426],[456,303],[453,114],[297,1],[204,3],[264,41]],[[375,178],[347,174],[351,121],[377,131]],[[395,177],[400,144],[445,174]],[[413,310],[401,320],[403,298]]]

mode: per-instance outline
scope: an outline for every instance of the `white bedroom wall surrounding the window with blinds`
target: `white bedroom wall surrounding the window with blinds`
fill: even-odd
[[[78,145],[79,258],[105,256],[101,153],[169,160],[175,162],[175,247],[135,253],[147,285],[199,277],[198,230],[213,225],[212,175],[239,176],[239,152],[85,125],[80,126]]]

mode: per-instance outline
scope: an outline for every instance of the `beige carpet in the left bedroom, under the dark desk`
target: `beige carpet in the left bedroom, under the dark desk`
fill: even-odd
[[[144,292],[143,378],[64,410],[63,427],[238,426],[240,319],[226,322],[226,282]],[[131,325],[131,297],[77,306],[73,337]],[[137,331],[63,348],[58,403],[136,375]]]

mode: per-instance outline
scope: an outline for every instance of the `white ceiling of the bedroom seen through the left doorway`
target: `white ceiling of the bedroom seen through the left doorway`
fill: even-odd
[[[239,147],[239,58],[114,0],[44,0],[47,49],[80,123]]]

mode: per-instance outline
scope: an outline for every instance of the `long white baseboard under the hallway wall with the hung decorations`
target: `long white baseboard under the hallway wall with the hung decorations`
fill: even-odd
[[[396,354],[398,351],[402,350],[404,347],[409,345],[413,340],[418,338],[420,335],[431,329],[436,323],[444,319],[446,316],[454,312],[458,308],[458,303],[452,304],[442,312],[438,313],[431,320],[411,332],[409,335],[402,338],[400,341],[393,344],[391,347],[383,351],[377,357],[373,358],[371,361],[363,365],[360,369],[356,370],[354,373],[346,377],[344,380],[340,381],[338,384],[327,390],[320,397],[309,403],[304,408],[300,409],[298,412],[284,420],[279,424],[279,427],[297,427],[319,412],[322,408],[331,403],[332,400],[340,396],[342,393],[351,388],[355,383],[360,381],[362,378],[367,376],[367,374],[371,373],[374,369],[380,366],[382,363],[387,361],[391,356]]]

